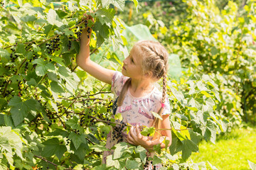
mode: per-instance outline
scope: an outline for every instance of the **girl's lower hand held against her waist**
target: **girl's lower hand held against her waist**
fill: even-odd
[[[127,136],[127,142],[132,145],[141,145],[145,149],[151,149],[153,146],[151,140],[149,140],[149,137],[145,137],[140,133],[138,125],[136,126],[135,130],[136,133],[134,132],[134,126],[132,126]]]

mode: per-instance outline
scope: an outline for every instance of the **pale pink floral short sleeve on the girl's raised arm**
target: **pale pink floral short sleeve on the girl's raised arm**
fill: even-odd
[[[124,86],[125,81],[127,81],[129,77],[125,77],[121,72],[114,72],[111,82],[111,91],[114,94],[114,98],[119,96],[122,87]]]

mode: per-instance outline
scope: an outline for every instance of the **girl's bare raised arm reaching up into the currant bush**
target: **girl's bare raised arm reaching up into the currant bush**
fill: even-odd
[[[90,18],[91,19],[91,18]],[[82,30],[82,35],[80,38],[80,52],[76,57],[76,63],[81,67],[85,72],[89,73],[96,79],[103,81],[107,84],[111,84],[114,70],[106,69],[96,62],[90,60],[90,35],[87,38],[87,29]],[[90,29],[91,32],[91,29]]]

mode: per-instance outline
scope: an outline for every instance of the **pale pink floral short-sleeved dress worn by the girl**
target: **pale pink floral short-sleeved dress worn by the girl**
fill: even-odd
[[[124,77],[121,72],[114,72],[112,77],[112,86],[111,91],[114,94],[114,98],[117,98],[122,90],[122,86],[124,86],[125,81],[127,81],[129,77]],[[162,93],[154,87],[154,89],[143,97],[134,97],[130,93],[129,89],[127,94],[124,97],[124,101],[122,106],[117,107],[116,113],[122,114],[122,121],[124,123],[129,123],[131,125],[145,125],[147,127],[151,126],[154,116],[151,111],[158,112],[161,108],[161,97]],[[164,111],[162,115],[170,114],[170,103],[168,98],[166,98]],[[123,132],[122,142],[126,142],[127,133]],[[117,140],[114,140],[112,137],[112,132],[107,135],[107,143],[106,147],[111,149],[114,145],[117,144]],[[102,163],[106,163],[107,156],[112,154],[112,152],[104,152]],[[156,168],[157,169],[157,168]]]

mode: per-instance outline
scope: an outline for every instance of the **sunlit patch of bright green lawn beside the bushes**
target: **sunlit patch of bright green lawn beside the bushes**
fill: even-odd
[[[247,162],[256,163],[256,128],[237,128],[218,137],[215,144],[201,142],[193,162],[210,162],[219,170],[249,170]]]

